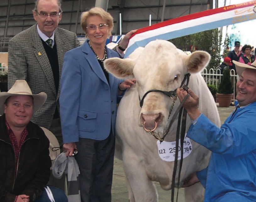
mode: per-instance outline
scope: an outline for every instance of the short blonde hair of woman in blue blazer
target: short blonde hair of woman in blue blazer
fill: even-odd
[[[106,23],[108,24],[108,28],[109,28],[109,36],[111,36],[111,31],[114,26],[113,17],[110,15],[110,13],[104,11],[102,8],[94,7],[94,8],[91,8],[89,11],[83,12],[81,14],[81,27],[84,30],[85,37],[86,38],[88,37],[86,33],[87,19],[88,17],[95,16],[95,15],[98,15],[103,20],[106,20]]]

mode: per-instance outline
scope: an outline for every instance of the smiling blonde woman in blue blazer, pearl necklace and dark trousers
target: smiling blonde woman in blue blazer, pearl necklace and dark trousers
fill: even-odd
[[[59,99],[63,150],[67,156],[79,151],[75,158],[81,201],[111,202],[117,103],[134,82],[114,78],[103,67],[106,58],[119,57],[105,45],[112,16],[91,8],[82,13],[81,26],[89,40],[68,51],[63,61]]]

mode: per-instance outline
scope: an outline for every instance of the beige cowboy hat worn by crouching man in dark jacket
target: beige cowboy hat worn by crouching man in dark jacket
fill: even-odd
[[[38,93],[33,95],[28,83],[25,80],[17,80],[8,92],[0,92],[0,114],[4,113],[5,100],[13,95],[31,95],[34,99],[33,112],[39,109],[46,101],[46,93]]]

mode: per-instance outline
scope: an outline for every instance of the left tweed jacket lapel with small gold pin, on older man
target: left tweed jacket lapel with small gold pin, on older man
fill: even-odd
[[[35,48],[34,49],[35,57],[45,74],[45,77],[49,83],[49,86],[52,88],[52,91],[56,94],[56,97],[57,97],[51,64],[50,64],[47,54],[45,52],[41,38],[38,35],[37,29],[36,29],[36,24],[34,25],[34,32],[32,34],[32,38],[33,38],[32,39],[33,46]]]

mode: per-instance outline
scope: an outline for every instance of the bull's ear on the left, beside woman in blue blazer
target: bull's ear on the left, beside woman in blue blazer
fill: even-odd
[[[109,58],[104,61],[105,69],[117,78],[134,78],[133,67],[135,62],[133,59]]]

